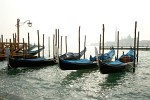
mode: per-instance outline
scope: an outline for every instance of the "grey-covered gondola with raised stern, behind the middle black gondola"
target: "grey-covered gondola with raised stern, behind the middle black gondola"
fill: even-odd
[[[86,50],[87,49],[85,47],[80,53],[67,52],[67,53],[61,55],[60,58],[62,58],[64,60],[77,60],[77,59],[81,58],[84,55]]]

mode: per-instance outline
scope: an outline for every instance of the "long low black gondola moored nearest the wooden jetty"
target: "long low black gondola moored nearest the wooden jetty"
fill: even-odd
[[[18,67],[43,67],[56,64],[55,59],[45,59],[45,58],[12,58],[9,57],[8,67],[18,68]]]

